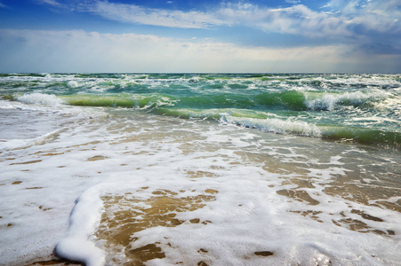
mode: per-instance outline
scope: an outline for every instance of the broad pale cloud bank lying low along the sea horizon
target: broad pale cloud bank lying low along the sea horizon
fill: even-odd
[[[0,72],[391,72],[401,61],[399,56],[366,59],[344,44],[247,48],[80,30],[1,29],[0,45]],[[388,68],[374,68],[379,66]]]

